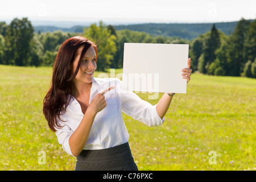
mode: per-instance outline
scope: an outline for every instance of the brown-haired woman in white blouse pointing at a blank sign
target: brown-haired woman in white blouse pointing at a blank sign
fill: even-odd
[[[162,125],[174,93],[152,106],[133,92],[122,92],[117,78],[94,78],[96,63],[97,47],[90,40],[75,36],[61,45],[44,116],[63,149],[77,157],[75,170],[138,170],[122,111],[148,126]],[[183,69],[187,82],[191,73]]]

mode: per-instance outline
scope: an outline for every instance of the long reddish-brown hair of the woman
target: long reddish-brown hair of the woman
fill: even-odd
[[[73,61],[76,58],[77,49],[81,46],[84,46],[84,48],[76,71],[73,73]],[[65,112],[70,102],[74,86],[73,78],[76,77],[82,58],[90,46],[93,46],[96,52],[97,62],[98,51],[96,45],[82,36],[75,36],[65,40],[57,53],[53,65],[51,85],[43,101],[43,114],[52,131],[56,131],[56,128],[61,128],[57,118],[63,121],[60,115]]]

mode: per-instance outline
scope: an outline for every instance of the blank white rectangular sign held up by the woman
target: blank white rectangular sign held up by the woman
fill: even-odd
[[[123,89],[187,93],[181,69],[188,67],[188,44],[125,43]]]

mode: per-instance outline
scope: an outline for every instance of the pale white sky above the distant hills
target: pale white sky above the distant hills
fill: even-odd
[[[256,19],[255,0],[0,0],[0,20],[212,23]]]

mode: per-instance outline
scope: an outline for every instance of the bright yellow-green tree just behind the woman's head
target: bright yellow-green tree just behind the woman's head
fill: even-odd
[[[106,68],[110,67],[111,61],[117,51],[117,47],[115,45],[115,40],[117,39],[116,36],[111,35],[110,30],[108,30],[102,21],[99,26],[97,26],[96,23],[92,24],[88,30],[84,31],[84,35],[86,38],[97,44],[97,68],[99,71],[105,71]]]

